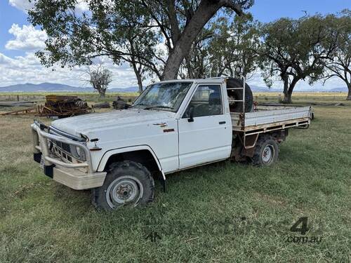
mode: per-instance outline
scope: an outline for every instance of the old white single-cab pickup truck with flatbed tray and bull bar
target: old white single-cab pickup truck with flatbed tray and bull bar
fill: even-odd
[[[289,128],[308,128],[312,108],[255,108],[239,82],[161,81],[128,109],[34,121],[34,161],[60,184],[91,189],[105,210],[149,203],[154,179],[165,189],[166,175],[180,170],[226,159],[270,166]]]

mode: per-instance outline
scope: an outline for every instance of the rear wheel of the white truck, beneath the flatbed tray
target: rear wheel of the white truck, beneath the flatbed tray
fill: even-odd
[[[262,136],[256,142],[252,163],[255,166],[271,166],[278,159],[279,148],[271,136]]]

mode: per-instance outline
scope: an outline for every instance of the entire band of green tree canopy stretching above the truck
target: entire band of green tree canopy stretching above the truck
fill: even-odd
[[[88,11],[77,11],[78,1]],[[48,34],[37,53],[48,67],[91,65],[108,56],[133,68],[141,92],[148,76],[233,76],[240,65],[249,78],[259,65],[268,86],[284,83],[285,102],[298,81],[333,76],[345,81],[351,98],[349,10],[260,25],[242,12],[253,0],[34,2],[29,21]]]

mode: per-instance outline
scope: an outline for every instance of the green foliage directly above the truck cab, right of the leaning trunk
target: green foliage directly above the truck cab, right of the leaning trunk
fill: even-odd
[[[250,78],[257,67],[258,25],[250,13],[235,16],[232,21],[223,16],[213,20],[194,41],[183,63],[187,73],[183,75],[191,79],[234,76],[234,68],[240,65],[244,76]]]

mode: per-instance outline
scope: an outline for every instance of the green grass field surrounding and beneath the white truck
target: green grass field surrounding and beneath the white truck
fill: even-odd
[[[315,106],[310,128],[291,130],[273,167],[226,161],[168,175],[154,203],[113,213],[41,173],[31,117],[1,116],[0,262],[350,262],[344,103]],[[305,236],[320,243],[287,242],[301,236],[290,227],[304,216]]]

